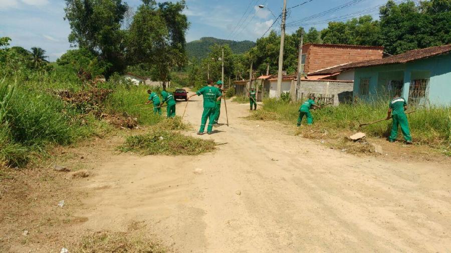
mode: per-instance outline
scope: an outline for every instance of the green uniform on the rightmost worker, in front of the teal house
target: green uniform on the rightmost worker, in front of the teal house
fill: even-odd
[[[404,134],[404,139],[406,141],[412,141],[412,136],[410,136],[409,123],[407,121],[407,116],[404,113],[404,106],[407,102],[403,97],[396,97],[390,101],[388,105],[391,109],[391,115],[393,117],[393,125],[391,127],[391,134],[388,139],[390,141],[395,141],[398,137],[398,125],[401,125],[402,134]]]

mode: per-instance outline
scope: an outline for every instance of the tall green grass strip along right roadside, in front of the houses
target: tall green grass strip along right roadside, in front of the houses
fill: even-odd
[[[339,132],[363,130],[375,137],[388,137],[391,120],[364,126],[359,129],[359,122],[369,122],[386,117],[388,99],[378,99],[372,103],[341,104],[311,110],[314,123],[307,127],[305,121],[299,133],[305,137],[318,137],[327,133],[333,137]],[[299,116],[300,103],[287,103],[276,99],[265,100],[264,110],[258,110],[250,119],[280,120],[295,125]],[[416,112],[408,115],[411,134],[416,143],[427,144],[435,148],[451,148],[451,108],[418,107]],[[304,119],[305,120],[305,119]],[[342,134],[341,134],[342,135]],[[398,139],[402,140],[399,132]]]

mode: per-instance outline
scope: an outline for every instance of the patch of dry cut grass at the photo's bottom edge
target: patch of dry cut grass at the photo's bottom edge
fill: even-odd
[[[71,250],[72,252],[72,250]],[[138,253],[162,253],[167,249],[154,239],[143,234],[130,234],[126,232],[92,232],[84,236],[76,246],[74,252],[138,252]]]

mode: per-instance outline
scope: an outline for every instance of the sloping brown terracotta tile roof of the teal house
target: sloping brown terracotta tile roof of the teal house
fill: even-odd
[[[381,59],[371,59],[364,60],[358,62],[352,62],[345,65],[334,66],[330,68],[326,68],[323,70],[315,71],[312,73],[308,73],[308,75],[326,75],[326,74],[335,74],[345,70],[360,68],[360,67],[369,67],[369,66],[378,66],[378,65],[387,65],[387,64],[400,64],[406,63],[409,61],[414,61],[417,59],[427,58],[443,53],[451,52],[451,44],[449,45],[441,45],[428,47],[423,49],[415,49],[410,50],[404,53],[400,53],[397,55],[381,58]]]

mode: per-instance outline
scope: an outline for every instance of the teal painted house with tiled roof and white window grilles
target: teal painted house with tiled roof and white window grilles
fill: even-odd
[[[349,63],[325,73],[351,69],[353,95],[361,100],[400,92],[409,104],[451,105],[451,44]]]

